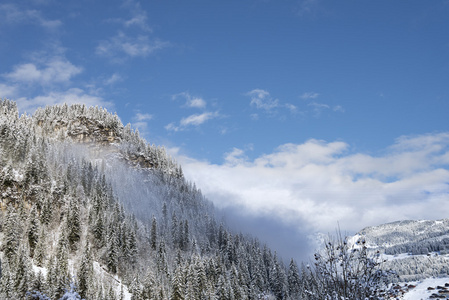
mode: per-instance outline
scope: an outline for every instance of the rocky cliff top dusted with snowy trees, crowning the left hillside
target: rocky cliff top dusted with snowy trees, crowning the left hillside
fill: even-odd
[[[36,131],[41,135],[64,141],[70,139],[86,145],[96,156],[113,155],[139,168],[162,171],[182,177],[181,167],[163,147],[149,146],[138,131],[123,126],[117,115],[104,109],[83,105],[47,107],[33,115]]]

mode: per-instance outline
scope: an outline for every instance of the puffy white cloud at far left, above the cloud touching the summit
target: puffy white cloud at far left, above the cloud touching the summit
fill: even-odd
[[[13,82],[51,85],[69,82],[73,76],[83,70],[59,56],[53,57],[41,65],[39,63],[16,65],[12,72],[3,74],[3,76]]]

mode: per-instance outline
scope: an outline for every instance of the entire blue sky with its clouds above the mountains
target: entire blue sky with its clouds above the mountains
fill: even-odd
[[[29,0],[0,15],[0,97],[117,112],[219,207],[308,233],[449,216],[425,209],[449,200],[449,1]]]

